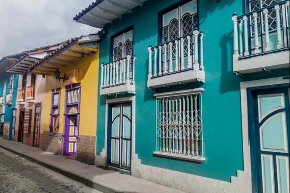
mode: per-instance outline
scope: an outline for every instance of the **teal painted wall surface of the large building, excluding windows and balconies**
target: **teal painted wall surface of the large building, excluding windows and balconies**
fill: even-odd
[[[142,164],[230,181],[243,170],[240,81],[232,71],[233,12],[242,14],[243,0],[199,0],[199,27],[204,32],[205,83],[176,86],[158,92],[204,88],[203,148],[205,161],[195,163],[154,157],[156,150],[156,100],[147,89],[148,46],[158,45],[158,12],[178,0],[149,0],[132,13],[106,26],[100,41],[100,63],[109,62],[110,37],[133,25],[133,50],[136,56],[136,154]],[[100,71],[100,70],[99,70]],[[267,76],[266,74],[264,74]],[[263,75],[262,75],[263,76]],[[104,148],[105,98],[98,97],[97,155]]]

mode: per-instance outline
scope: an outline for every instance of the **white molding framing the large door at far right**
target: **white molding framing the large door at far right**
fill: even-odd
[[[247,89],[251,87],[260,87],[268,85],[277,85],[289,83],[288,79],[283,77],[260,79],[253,81],[241,82],[241,112],[242,112],[242,136],[243,136],[243,158],[244,158],[244,188],[247,188],[245,193],[252,192],[252,171],[251,171],[251,152],[248,133],[248,99]]]

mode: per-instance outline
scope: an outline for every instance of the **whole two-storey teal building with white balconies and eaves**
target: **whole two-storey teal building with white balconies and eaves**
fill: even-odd
[[[273,126],[271,130],[265,125],[271,116],[280,116],[283,111],[289,119],[289,1],[265,4],[257,0],[257,6],[247,0],[129,2],[96,1],[74,18],[103,28],[96,165],[125,169],[134,176],[185,192],[289,189],[285,184],[289,168],[284,176],[267,174],[279,160],[266,160],[266,150],[257,152],[258,145],[252,141],[259,137],[266,141],[268,136],[262,131],[261,135],[253,134],[255,128],[251,128],[256,123],[254,118],[251,120],[256,114],[251,112],[258,111],[257,98],[261,99],[259,108],[270,113],[256,124],[261,130],[270,128],[269,136]],[[262,35],[258,32],[261,28],[255,17],[263,18],[265,9],[273,18],[283,10],[283,43],[276,26],[269,30],[270,38],[269,31],[264,30]],[[187,14],[191,17],[189,32]],[[284,90],[275,90],[277,87]],[[261,93],[254,96],[256,91]],[[271,100],[279,93],[285,96],[281,108],[262,102],[263,97]],[[275,111],[276,107],[280,110]],[[280,161],[289,165],[289,122],[283,124],[285,154],[271,156],[282,156],[285,160]],[[261,158],[264,160],[259,162]]]

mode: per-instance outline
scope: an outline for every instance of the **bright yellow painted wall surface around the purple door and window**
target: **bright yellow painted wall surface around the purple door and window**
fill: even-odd
[[[94,55],[86,56],[74,64],[68,64],[66,67],[59,68],[62,72],[71,69],[78,69],[81,83],[81,105],[80,105],[80,125],[79,135],[94,135],[97,133],[97,95],[98,95],[98,52]],[[60,103],[60,127],[59,132],[64,132],[64,94],[65,88],[63,80],[58,82],[53,73],[48,74],[46,79],[46,97],[45,97],[45,118],[44,131],[49,131],[50,110],[51,110],[51,90],[61,88]]]

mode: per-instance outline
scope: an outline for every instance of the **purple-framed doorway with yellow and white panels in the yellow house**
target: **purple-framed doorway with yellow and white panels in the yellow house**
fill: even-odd
[[[80,84],[65,87],[63,155],[74,156],[79,136]]]

